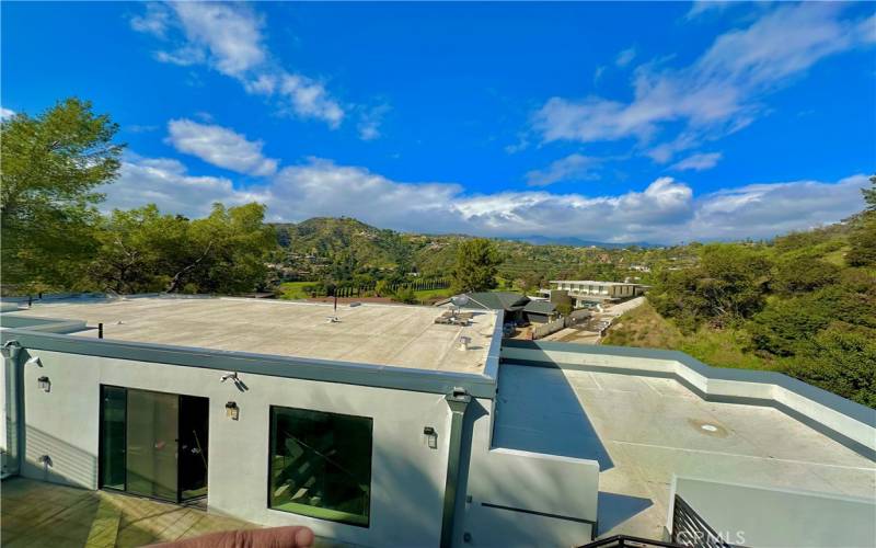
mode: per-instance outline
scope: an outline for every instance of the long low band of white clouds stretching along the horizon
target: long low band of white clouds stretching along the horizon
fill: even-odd
[[[661,178],[643,191],[468,194],[453,183],[403,183],[364,168],[310,159],[278,171],[260,186],[234,187],[224,178],[194,176],[176,160],[128,158],[106,186],[107,205],[154,202],[170,213],[199,216],[212,202],[256,201],[269,220],[351,216],[382,228],[483,236],[575,236],[598,241],[678,242],[770,238],[841,220],[863,208],[865,175],[839,182],[751,184],[694,196]]]

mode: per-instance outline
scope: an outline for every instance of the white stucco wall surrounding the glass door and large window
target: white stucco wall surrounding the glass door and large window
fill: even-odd
[[[318,535],[370,546],[437,546],[447,471],[450,412],[443,396],[301,379],[244,375],[239,391],[211,369],[30,351],[43,367],[24,367],[25,463],[22,475],[97,487],[100,385],[210,399],[211,511],[266,525],[303,524]],[[37,378],[51,379],[51,391]],[[240,420],[224,404],[240,407]],[[268,408],[287,406],[371,416],[373,455],[369,527],[267,509]],[[438,432],[430,449],[424,426]],[[48,455],[51,466],[41,461]]]

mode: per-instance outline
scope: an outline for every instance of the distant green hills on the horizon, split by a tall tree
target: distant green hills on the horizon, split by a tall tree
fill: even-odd
[[[410,272],[447,276],[464,235],[417,235],[380,229],[357,219],[318,217],[299,224],[276,224],[283,277],[295,281],[399,278]],[[548,240],[545,240],[548,241]],[[494,239],[504,258],[499,277],[509,286],[534,287],[557,277],[647,283],[647,271],[687,264],[691,247],[629,248],[535,244]],[[635,266],[635,267],[634,267]],[[645,267],[646,272],[642,271]]]

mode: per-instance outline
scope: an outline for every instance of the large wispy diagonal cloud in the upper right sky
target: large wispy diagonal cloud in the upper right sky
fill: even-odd
[[[833,2],[780,5],[747,28],[718,36],[688,67],[668,68],[667,61],[637,67],[630,102],[551,98],[533,116],[533,128],[545,141],[632,137],[648,145],[679,125],[679,137],[652,155],[668,161],[752,123],[765,111],[765,95],[820,59],[873,42],[868,20],[843,19],[843,9]]]

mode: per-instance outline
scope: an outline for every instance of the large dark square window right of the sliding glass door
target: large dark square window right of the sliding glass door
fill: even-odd
[[[270,507],[368,525],[372,420],[270,408]]]

